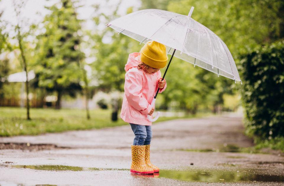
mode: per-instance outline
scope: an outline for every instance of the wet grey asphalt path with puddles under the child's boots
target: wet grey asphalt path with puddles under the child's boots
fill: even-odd
[[[152,130],[151,159],[159,175],[129,173],[134,135],[125,125],[2,137],[0,143],[67,148],[0,150],[0,185],[284,185],[282,154],[226,152],[253,146],[238,115],[172,120]]]

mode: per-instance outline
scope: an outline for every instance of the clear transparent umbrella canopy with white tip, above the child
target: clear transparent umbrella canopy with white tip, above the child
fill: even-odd
[[[168,54],[215,74],[241,81],[235,61],[225,43],[214,32],[189,15],[158,9],[127,14],[107,24],[140,43],[155,40],[167,47]]]

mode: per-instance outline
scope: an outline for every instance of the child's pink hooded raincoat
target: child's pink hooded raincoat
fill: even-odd
[[[129,54],[124,68],[126,74],[120,117],[127,123],[152,125],[152,122],[147,120],[147,114],[152,109],[151,102],[158,90],[161,72],[159,70],[154,74],[146,74],[143,70],[138,70],[139,63],[141,63],[140,53]],[[167,83],[163,89],[159,90],[159,93],[163,92],[166,87]]]

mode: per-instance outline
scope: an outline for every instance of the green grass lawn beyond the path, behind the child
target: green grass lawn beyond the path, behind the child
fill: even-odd
[[[201,117],[188,115],[185,118]],[[37,135],[66,130],[87,130],[103,127],[128,125],[120,118],[111,121],[111,110],[90,110],[91,119],[86,119],[86,111],[79,109],[30,109],[32,120],[26,120],[26,109],[17,107],[0,107],[0,136]],[[161,117],[157,122],[178,117]],[[156,123],[156,122],[155,122]]]

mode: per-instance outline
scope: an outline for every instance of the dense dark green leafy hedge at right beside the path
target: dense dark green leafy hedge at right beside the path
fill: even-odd
[[[284,40],[241,56],[246,133],[284,136]]]

